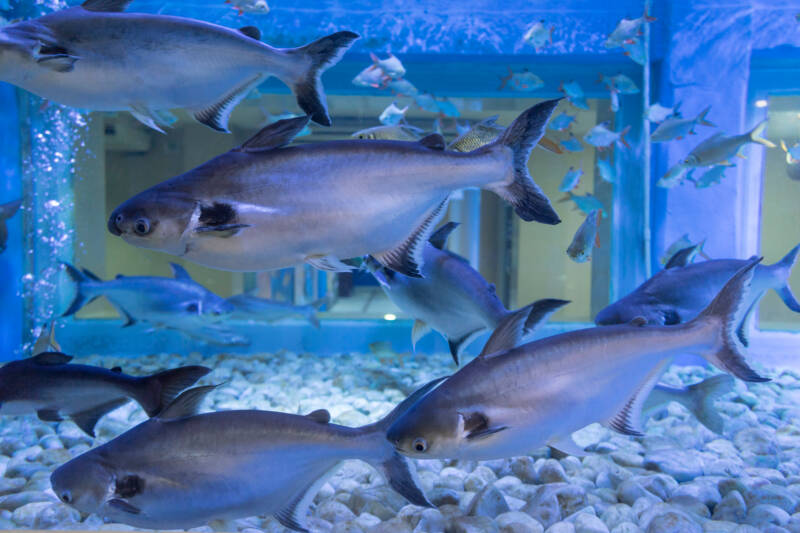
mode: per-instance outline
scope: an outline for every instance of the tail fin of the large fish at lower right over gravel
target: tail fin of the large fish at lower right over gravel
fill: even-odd
[[[761,262],[761,258],[748,261],[717,294],[714,300],[697,318],[689,322],[687,328],[709,327],[715,337],[707,351],[700,353],[708,362],[733,374],[743,381],[763,382],[768,378],[760,376],[750,368],[741,351],[741,344],[736,336],[736,329],[741,321],[741,311],[745,295],[753,279],[753,272]]]

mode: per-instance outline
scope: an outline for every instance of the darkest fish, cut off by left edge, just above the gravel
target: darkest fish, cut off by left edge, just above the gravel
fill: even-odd
[[[72,357],[44,352],[0,368],[0,415],[36,413],[40,420],[72,419],[94,437],[94,426],[106,413],[134,400],[155,416],[183,389],[211,369],[185,366],[152,376],[135,377],[87,365],[72,365]]]

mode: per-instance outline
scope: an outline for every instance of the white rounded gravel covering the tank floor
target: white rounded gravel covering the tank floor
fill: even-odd
[[[333,421],[377,420],[416,386],[451,373],[449,354],[436,356],[310,354],[254,356],[91,357],[139,375],[178,364],[204,364],[202,383],[226,382],[208,409],[270,409],[308,413],[326,407]],[[630,438],[600,425],[575,435],[592,453],[530,456],[476,463],[418,461],[420,479],[437,509],[408,505],[365,463],[349,461],[322,487],[308,524],[335,533],[800,533],[800,375],[765,373],[771,383],[737,382],[718,402],[724,435],[700,425],[677,404]],[[670,385],[712,372],[672,368]],[[213,404],[213,405],[212,405]],[[133,529],[81,519],[52,493],[50,472],[70,457],[144,420],[130,403],[106,416],[93,442],[72,422],[35,417],[0,420],[0,529]],[[193,531],[258,533],[285,529],[272,517],[212,523]]]

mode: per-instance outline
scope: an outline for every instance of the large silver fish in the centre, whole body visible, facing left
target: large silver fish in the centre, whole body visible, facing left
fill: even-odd
[[[524,220],[560,222],[528,174],[528,157],[558,100],[524,111],[487,146],[444,150],[420,142],[347,140],[284,147],[306,119],[271,124],[194,170],[134,196],[108,229],[126,242],[223,270],[307,262],[329,271],[372,255],[419,276],[424,245],[455,190],[481,187]]]

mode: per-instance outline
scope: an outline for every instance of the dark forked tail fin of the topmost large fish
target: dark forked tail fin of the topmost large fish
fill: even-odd
[[[300,108],[317,124],[331,125],[320,76],[326,69],[338,63],[353,41],[359,37],[351,31],[339,31],[290,51],[292,54],[306,56],[309,60],[308,68],[295,80],[293,89]]]

